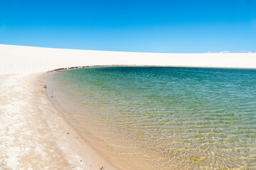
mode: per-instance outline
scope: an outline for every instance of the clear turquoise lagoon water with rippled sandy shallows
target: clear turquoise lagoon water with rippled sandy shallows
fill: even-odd
[[[256,169],[256,69],[93,67],[46,84],[68,122],[123,169]]]

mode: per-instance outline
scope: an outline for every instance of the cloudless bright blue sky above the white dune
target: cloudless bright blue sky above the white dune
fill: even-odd
[[[0,44],[132,52],[256,51],[256,0],[0,0]]]

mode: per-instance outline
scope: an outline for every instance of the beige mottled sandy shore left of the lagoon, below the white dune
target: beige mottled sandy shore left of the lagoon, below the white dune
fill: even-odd
[[[1,89],[6,93],[1,93],[0,167],[114,169],[55,111],[43,88],[43,77],[44,73],[1,76]]]

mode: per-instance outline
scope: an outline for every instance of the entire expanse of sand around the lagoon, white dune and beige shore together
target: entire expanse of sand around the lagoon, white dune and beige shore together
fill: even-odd
[[[256,68],[255,53],[161,54],[0,45],[0,169],[118,169],[55,111],[46,72],[95,65]]]

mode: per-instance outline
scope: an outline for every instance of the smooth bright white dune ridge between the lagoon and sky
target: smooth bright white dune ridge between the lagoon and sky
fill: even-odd
[[[0,74],[108,64],[256,68],[256,53],[164,54],[0,45],[0,57]]]

